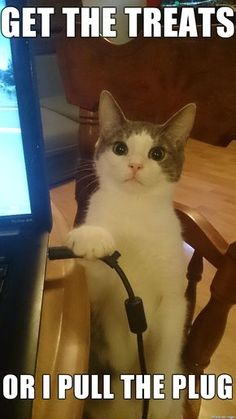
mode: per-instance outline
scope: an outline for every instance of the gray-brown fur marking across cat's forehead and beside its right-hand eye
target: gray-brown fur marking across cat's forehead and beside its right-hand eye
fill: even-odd
[[[144,131],[153,139],[153,146],[164,148],[166,152],[165,157],[163,160],[156,162],[156,164],[161,167],[170,182],[176,182],[181,175],[183,167],[184,145],[176,143],[174,138],[166,135],[163,125],[143,121],[125,121],[121,126],[101,134],[95,151],[95,160],[104,151],[110,149],[116,141],[127,142],[131,135],[141,135]]]

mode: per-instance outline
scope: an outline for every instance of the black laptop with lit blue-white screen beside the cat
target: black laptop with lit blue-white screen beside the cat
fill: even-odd
[[[5,0],[0,0],[0,12]],[[40,108],[26,39],[0,34],[0,417],[31,418],[3,377],[35,374],[51,212]]]

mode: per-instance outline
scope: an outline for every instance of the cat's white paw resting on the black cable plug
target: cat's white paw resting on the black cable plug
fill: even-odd
[[[115,251],[114,240],[107,230],[88,225],[72,230],[68,235],[67,246],[77,256],[86,259],[102,258]]]

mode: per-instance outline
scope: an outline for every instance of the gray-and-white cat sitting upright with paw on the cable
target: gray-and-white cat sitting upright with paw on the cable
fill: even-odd
[[[165,124],[130,121],[108,91],[99,102],[94,165],[98,189],[86,220],[68,246],[83,257],[91,302],[90,373],[111,374],[115,399],[86,402],[86,419],[139,419],[142,401],[123,400],[120,374],[139,374],[136,337],[128,328],[127,298],[117,274],[102,261],[114,250],[136,295],[148,329],[144,347],[149,374],[165,374],[165,400],[150,400],[149,419],[179,419],[182,401],[171,399],[171,375],[181,372],[186,318],[185,260],[181,227],[172,204],[195,104]]]

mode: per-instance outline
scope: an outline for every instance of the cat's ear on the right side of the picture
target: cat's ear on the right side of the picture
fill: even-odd
[[[196,105],[189,103],[164,124],[162,132],[176,146],[184,146],[193,128],[195,115]]]

